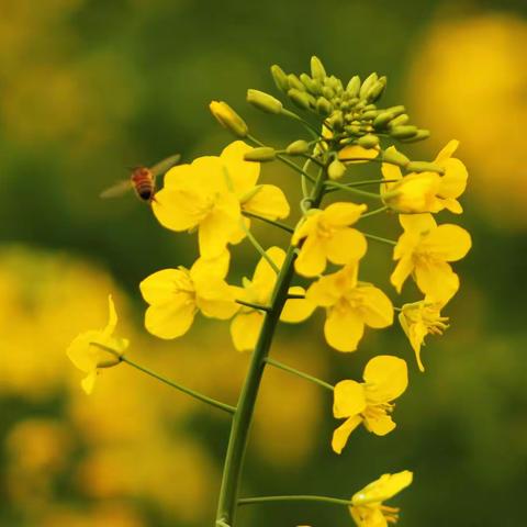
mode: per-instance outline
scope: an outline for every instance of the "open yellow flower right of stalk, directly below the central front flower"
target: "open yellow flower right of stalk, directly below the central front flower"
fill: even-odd
[[[324,334],[338,351],[355,351],[365,326],[381,328],[393,323],[392,302],[380,289],[359,282],[358,268],[352,264],[322,277],[306,293],[307,300],[326,307]]]

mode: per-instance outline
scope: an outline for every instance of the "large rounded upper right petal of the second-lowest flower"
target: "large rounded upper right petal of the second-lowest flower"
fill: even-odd
[[[399,397],[408,385],[406,362],[399,357],[380,355],[371,359],[363,374],[366,396],[370,403],[388,403]]]

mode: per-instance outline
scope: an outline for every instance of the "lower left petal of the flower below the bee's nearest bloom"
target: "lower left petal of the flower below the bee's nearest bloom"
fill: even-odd
[[[146,310],[145,327],[159,338],[170,339],[184,335],[194,319],[192,302],[154,305]]]

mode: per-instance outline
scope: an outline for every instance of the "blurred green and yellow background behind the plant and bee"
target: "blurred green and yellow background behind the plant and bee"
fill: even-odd
[[[327,394],[269,371],[243,493],[346,497],[411,469],[414,485],[393,502],[401,525],[525,525],[526,49],[522,0],[0,0],[0,525],[212,525],[224,415],[124,366],[88,397],[65,349],[103,326],[112,292],[138,361],[236,401],[248,357],[234,351],[227,325],[201,321],[171,343],[142,327],[138,282],[190,264],[195,240],[164,231],[133,195],[98,194],[127,166],[218,153],[231,138],[206,110],[212,99],[271,144],[300,137],[247,108],[245,90],[272,90],[271,64],[300,72],[312,54],[346,79],[386,74],[386,103],[404,101],[433,131],[407,149],[416,158],[461,141],[470,188],[453,221],[470,229],[473,250],[457,266],[451,328],[429,339],[424,374],[396,328],[369,332],[354,355],[324,344],[322,315],[280,332],[273,354],[292,366],[337,381],[394,354],[408,360],[411,388],[393,434],[358,430],[338,457]],[[266,170],[295,182],[281,167]],[[235,274],[250,272],[250,248],[236,257]],[[389,257],[372,247],[365,277],[386,291]],[[247,507],[240,525],[351,519],[338,507],[277,504]]]

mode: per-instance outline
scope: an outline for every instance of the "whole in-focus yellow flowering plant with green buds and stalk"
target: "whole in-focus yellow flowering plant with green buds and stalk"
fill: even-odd
[[[172,167],[152,202],[153,213],[164,227],[198,234],[200,256],[190,269],[180,266],[159,270],[139,287],[148,304],[145,326],[153,335],[180,337],[200,312],[205,317],[229,319],[234,348],[254,352],[236,408],[192,393],[238,416],[233,421],[233,446],[225,462],[216,522],[222,527],[231,526],[236,506],[232,496],[236,496],[239,473],[233,470],[240,470],[240,463],[232,460],[243,457],[245,441],[239,437],[250,425],[266,362],[333,390],[334,416],[346,419],[333,435],[332,447],[337,453],[359,424],[377,436],[392,431],[393,401],[407,388],[405,360],[390,355],[377,356],[367,363],[363,382],[345,379],[335,386],[279,365],[269,357],[278,323],[304,322],[321,307],[326,314],[327,344],[337,351],[352,352],[360,347],[367,327],[391,326],[397,311],[423,371],[424,339],[448,327],[448,318],[440,311],[459,289],[459,277],[450,262],[463,258],[471,247],[467,231],[450,223],[438,224],[435,216],[442,211],[462,212],[458,199],[467,187],[468,173],[452,157],[458,143],[450,142],[431,161],[411,160],[401,153],[393,141],[421,141],[428,132],[408,124],[404,106],[378,108],[385,77],[372,74],[361,81],[355,76],[344,88],[340,79],[325,72],[316,57],[311,75],[285,75],[278,66],[271,72],[279,89],[306,116],[259,90],[248,91],[248,102],[269,114],[294,120],[309,136],[295,138],[283,148],[265,145],[228,104],[211,103],[213,115],[237,139],[220,156],[199,157]],[[283,191],[258,182],[261,164],[269,161],[285,164],[301,180],[303,198],[296,225],[282,223],[291,210]],[[380,164],[380,179],[356,180],[352,169],[359,162]],[[365,186],[379,190],[366,191]],[[368,218],[374,215],[388,221],[399,216],[402,233],[397,240],[369,232]],[[289,246],[262,247],[253,233],[254,221],[285,231]],[[229,249],[244,240],[254,246],[259,261],[253,278],[244,278],[240,284],[229,283]],[[397,307],[386,290],[361,280],[369,243],[393,248],[395,265],[389,281],[394,292],[402,293],[412,278],[423,298]],[[113,340],[114,319],[112,314],[102,334],[91,332],[78,337],[70,348],[71,359],[89,373],[85,388],[91,389],[98,369],[120,361],[125,345]],[[115,350],[113,362],[106,363],[99,354],[111,348]],[[82,354],[89,357],[86,366],[79,358]],[[395,522],[396,509],[383,506],[382,501],[411,481],[407,471],[385,474],[354,495],[350,511],[357,525]]]

